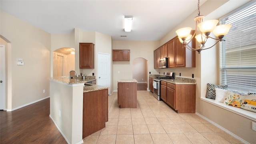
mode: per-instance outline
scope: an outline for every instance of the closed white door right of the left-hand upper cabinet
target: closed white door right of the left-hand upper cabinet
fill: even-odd
[[[108,87],[110,94],[110,55],[98,53],[97,85]]]

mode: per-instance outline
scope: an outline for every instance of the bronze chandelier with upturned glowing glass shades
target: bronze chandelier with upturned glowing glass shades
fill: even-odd
[[[231,24],[222,24],[222,25],[216,26],[219,22],[218,20],[206,20],[203,22],[203,19],[204,19],[204,16],[200,15],[200,0],[198,0],[198,16],[196,16],[194,18],[194,20],[196,21],[196,30],[197,30],[197,27],[199,27],[200,34],[196,35],[196,30],[194,31],[193,35],[190,34],[190,32],[192,30],[192,28],[190,28],[190,27],[180,28],[180,29],[176,30],[176,33],[178,34],[178,38],[180,39],[180,42],[183,44],[183,47],[186,47],[189,50],[196,50],[198,52],[198,54],[200,54],[200,52],[202,50],[212,48],[218,42],[225,41],[222,38],[228,33],[228,31],[230,30],[230,28],[232,26]],[[210,36],[211,32],[213,32],[214,35],[218,38],[212,38]],[[201,47],[198,46],[197,49],[192,48],[188,44],[191,42],[191,40],[194,37],[196,38],[196,40],[198,42],[201,43]],[[208,38],[212,38],[212,39],[218,40],[218,41],[214,45],[212,45],[208,48],[205,48],[205,43],[208,40]]]

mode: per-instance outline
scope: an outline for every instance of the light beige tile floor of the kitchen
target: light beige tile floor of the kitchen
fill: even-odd
[[[196,114],[177,114],[152,92],[137,91],[137,108],[119,108],[117,92],[108,96],[106,128],[84,144],[242,144]]]

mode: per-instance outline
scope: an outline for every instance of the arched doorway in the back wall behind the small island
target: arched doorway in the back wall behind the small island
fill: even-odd
[[[132,61],[132,78],[138,81],[137,90],[147,90],[148,60],[145,58],[135,58]]]

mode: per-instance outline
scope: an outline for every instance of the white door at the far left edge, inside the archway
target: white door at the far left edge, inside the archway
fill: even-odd
[[[5,46],[0,45],[0,110],[5,104]]]

